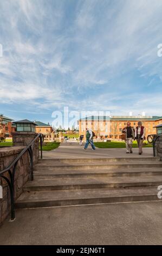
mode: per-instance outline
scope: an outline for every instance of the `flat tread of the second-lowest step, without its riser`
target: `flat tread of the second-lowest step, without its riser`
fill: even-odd
[[[34,186],[55,186],[55,185],[76,185],[76,184],[118,184],[118,183],[140,183],[140,182],[161,182],[161,175],[148,175],[148,176],[115,176],[115,177],[103,177],[93,176],[91,178],[55,178],[55,179],[39,179],[34,181],[28,181],[25,187]]]

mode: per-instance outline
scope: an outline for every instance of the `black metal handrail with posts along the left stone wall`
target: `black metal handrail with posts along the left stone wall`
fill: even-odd
[[[30,156],[30,180],[33,180],[33,146],[36,139],[40,138],[40,147],[41,147],[41,159],[42,159],[42,143],[43,143],[43,135],[38,133],[38,135],[30,142],[27,147],[25,147],[21,153],[12,161],[7,168],[0,172],[0,178],[3,178],[7,181],[9,190],[10,190],[10,198],[11,198],[11,220],[15,219],[15,198],[14,198],[14,178],[18,160],[21,159],[22,155],[28,151]],[[12,172],[11,172],[12,170]],[[4,176],[5,173],[9,173],[9,178]]]

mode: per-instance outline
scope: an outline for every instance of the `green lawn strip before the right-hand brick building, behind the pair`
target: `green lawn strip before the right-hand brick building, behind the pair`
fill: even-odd
[[[94,145],[100,149],[126,148],[125,142],[94,142]],[[137,142],[133,142],[133,148],[138,148]],[[152,148],[152,144],[146,144],[143,148]]]

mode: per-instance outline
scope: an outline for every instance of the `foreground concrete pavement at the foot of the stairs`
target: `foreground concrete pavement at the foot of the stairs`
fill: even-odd
[[[17,210],[0,245],[161,245],[161,218],[161,202]]]

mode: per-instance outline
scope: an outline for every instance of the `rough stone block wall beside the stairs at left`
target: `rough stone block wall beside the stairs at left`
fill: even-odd
[[[39,150],[38,143],[35,143],[34,160],[38,161]],[[0,148],[0,172],[4,168],[7,168],[9,164],[21,153],[24,147],[9,147]],[[5,173],[5,176],[9,178],[9,174]],[[15,173],[15,199],[17,199],[23,192],[24,184],[29,180],[30,176],[30,157],[26,152],[17,163]],[[7,182],[0,177],[0,185],[3,187],[3,198],[0,199],[0,225],[5,218],[10,214],[10,191]]]

